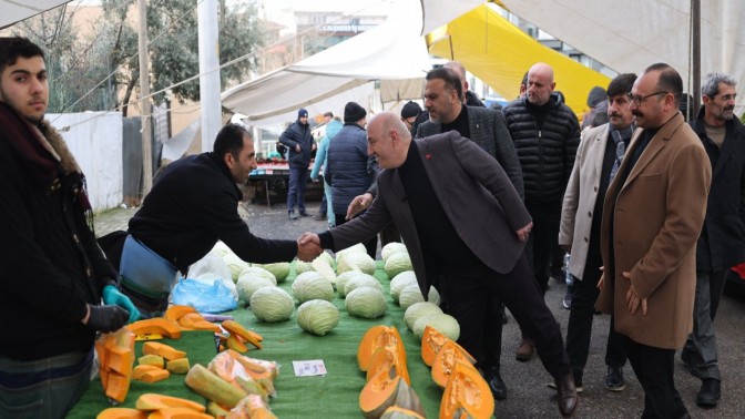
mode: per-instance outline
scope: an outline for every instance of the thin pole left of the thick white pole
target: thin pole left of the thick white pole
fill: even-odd
[[[153,187],[153,151],[150,106],[150,68],[147,54],[147,0],[137,0],[139,9],[139,49],[140,49],[140,109],[142,110],[142,198]]]

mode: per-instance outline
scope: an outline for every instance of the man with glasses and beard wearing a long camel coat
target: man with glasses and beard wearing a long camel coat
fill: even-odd
[[[693,328],[695,246],[706,213],[712,167],[677,110],[680,74],[650,65],[631,90],[637,130],[603,204],[604,272],[598,308],[627,337],[642,388],[643,418],[683,418],[675,350]]]

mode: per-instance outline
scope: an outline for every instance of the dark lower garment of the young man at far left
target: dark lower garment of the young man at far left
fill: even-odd
[[[64,418],[91,381],[93,350],[33,361],[0,356],[0,418]]]

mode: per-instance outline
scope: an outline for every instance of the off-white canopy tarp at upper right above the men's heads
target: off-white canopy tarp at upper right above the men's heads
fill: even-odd
[[[520,18],[618,72],[666,62],[690,82],[691,0],[501,0]],[[742,0],[701,2],[701,75],[718,71],[745,85]],[[688,83],[688,85],[691,85]],[[737,98],[742,113],[745,95]]]

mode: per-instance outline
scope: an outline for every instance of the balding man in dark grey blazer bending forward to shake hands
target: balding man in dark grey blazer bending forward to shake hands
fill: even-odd
[[[502,299],[535,337],[541,360],[559,388],[560,412],[572,415],[578,397],[561,330],[523,255],[530,214],[504,171],[457,132],[412,142],[391,112],[374,116],[367,135],[368,153],[384,168],[372,204],[359,217],[320,235],[306,233],[299,242],[338,251],[395,222],[422,295],[439,276],[448,313],[461,327],[458,341],[477,366],[484,357],[488,303]]]

